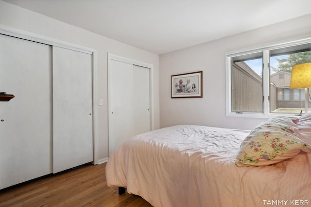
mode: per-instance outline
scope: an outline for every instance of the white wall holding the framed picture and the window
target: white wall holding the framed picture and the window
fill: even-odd
[[[268,16],[267,16],[268,18]],[[264,119],[226,116],[225,52],[311,35],[311,15],[160,55],[160,127],[251,129]],[[171,76],[203,71],[203,98],[171,98]]]

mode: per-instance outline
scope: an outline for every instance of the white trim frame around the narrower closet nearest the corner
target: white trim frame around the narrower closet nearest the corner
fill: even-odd
[[[138,65],[138,66],[141,66],[141,67],[145,67],[147,69],[149,69],[149,105],[150,105],[150,130],[154,130],[154,77],[153,77],[153,74],[154,74],[154,66],[153,64],[148,64],[148,63],[144,63],[144,62],[141,62],[141,61],[137,61],[137,60],[134,60],[134,59],[130,59],[130,58],[125,58],[125,57],[122,57],[122,56],[119,56],[119,55],[115,55],[115,54],[111,54],[111,53],[108,53],[108,156],[110,157],[110,152],[111,152],[111,146],[109,144],[109,137],[110,137],[110,130],[109,130],[109,117],[110,117],[110,114],[111,114],[111,91],[110,91],[110,81],[111,81],[111,77],[110,77],[110,70],[112,69],[111,68],[111,62],[112,61],[120,61],[120,62],[123,62],[123,63],[128,63],[128,64],[133,64],[133,65]]]

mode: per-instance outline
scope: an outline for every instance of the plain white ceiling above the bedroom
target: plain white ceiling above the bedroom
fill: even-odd
[[[4,0],[155,54],[311,14],[311,0]]]

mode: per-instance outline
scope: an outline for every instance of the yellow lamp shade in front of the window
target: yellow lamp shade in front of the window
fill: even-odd
[[[311,63],[293,66],[290,89],[295,88],[311,88]]]

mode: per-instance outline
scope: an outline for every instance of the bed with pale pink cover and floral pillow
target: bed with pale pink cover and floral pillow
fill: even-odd
[[[155,207],[311,205],[311,114],[252,130],[178,125],[130,138],[107,185]]]

